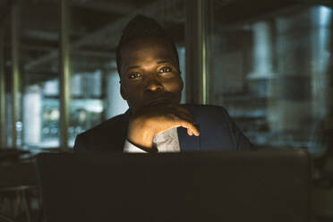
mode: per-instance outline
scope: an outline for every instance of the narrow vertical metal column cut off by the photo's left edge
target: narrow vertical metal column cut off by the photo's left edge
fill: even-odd
[[[4,90],[4,30],[0,30],[0,149],[7,146]]]

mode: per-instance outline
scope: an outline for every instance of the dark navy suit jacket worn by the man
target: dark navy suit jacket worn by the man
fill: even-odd
[[[189,136],[178,127],[181,151],[252,149],[252,144],[236,127],[223,107],[182,105],[193,116],[200,136]],[[131,111],[117,115],[76,137],[75,151],[123,151]]]

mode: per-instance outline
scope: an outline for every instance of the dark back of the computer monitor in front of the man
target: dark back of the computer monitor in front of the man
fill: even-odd
[[[48,222],[305,222],[306,152],[41,154],[38,180]]]

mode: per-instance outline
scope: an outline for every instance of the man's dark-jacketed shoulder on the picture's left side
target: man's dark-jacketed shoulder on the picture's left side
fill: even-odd
[[[116,115],[97,126],[80,133],[75,140],[75,151],[105,150],[122,147],[127,130],[126,115]],[[110,147],[111,143],[113,148]]]

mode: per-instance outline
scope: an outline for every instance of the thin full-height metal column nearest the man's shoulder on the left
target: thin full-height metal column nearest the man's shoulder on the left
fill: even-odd
[[[70,100],[70,47],[68,1],[60,3],[60,149],[68,149],[69,100]]]

